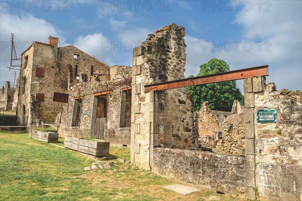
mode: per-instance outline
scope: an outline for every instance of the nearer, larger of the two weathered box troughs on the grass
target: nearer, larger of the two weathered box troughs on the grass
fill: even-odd
[[[64,147],[94,156],[109,156],[109,142],[104,140],[84,140],[71,136],[64,139]]]

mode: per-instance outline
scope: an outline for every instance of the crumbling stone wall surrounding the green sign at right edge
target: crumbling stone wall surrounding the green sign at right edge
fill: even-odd
[[[302,94],[266,85],[255,98],[255,183],[272,200],[302,197]],[[276,109],[276,123],[258,123],[257,110]]]

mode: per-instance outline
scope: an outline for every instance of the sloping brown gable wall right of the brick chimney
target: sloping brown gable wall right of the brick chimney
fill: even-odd
[[[79,83],[77,80],[77,76],[75,75],[75,65],[78,66],[78,73],[85,73],[88,76],[91,74],[91,66],[93,65],[93,73],[99,75],[100,80],[108,81],[110,80],[110,72],[109,66],[99,61],[98,59],[90,56],[89,54],[83,52],[82,50],[74,47],[73,45],[68,45],[65,47],[59,48],[61,51],[60,56],[60,65],[62,69],[62,80],[64,81],[64,85],[67,88],[68,85],[68,68],[67,65],[70,64],[72,66],[72,84]],[[78,55],[78,58],[73,58],[73,55]]]

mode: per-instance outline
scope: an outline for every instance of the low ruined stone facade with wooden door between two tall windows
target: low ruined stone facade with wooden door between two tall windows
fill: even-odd
[[[57,116],[60,136],[93,137],[130,145],[131,76],[129,66],[111,66],[108,79],[80,74],[69,84],[68,103]]]

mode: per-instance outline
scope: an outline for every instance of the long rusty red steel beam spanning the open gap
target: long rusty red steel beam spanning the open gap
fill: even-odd
[[[240,70],[232,70],[228,72],[220,72],[211,75],[204,75],[199,77],[191,77],[186,79],[179,79],[169,82],[149,84],[144,86],[144,91],[158,91],[171,88],[180,88],[185,86],[193,86],[200,84],[208,84],[214,82],[231,81],[244,79],[255,76],[268,76],[268,65],[257,66],[252,68],[245,68]]]

